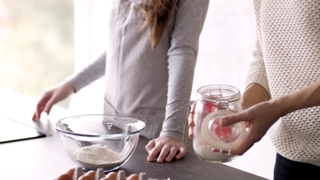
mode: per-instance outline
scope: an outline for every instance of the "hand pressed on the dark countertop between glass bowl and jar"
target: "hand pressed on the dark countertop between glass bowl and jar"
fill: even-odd
[[[159,154],[156,159],[159,163],[163,162],[163,160],[170,162],[174,157],[180,159],[186,153],[183,143],[169,136],[160,136],[150,140],[146,144],[145,150],[149,153],[147,157],[148,161],[153,161]]]

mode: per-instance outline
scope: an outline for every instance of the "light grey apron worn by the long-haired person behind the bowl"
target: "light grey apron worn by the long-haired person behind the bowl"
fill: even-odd
[[[144,121],[141,135],[153,139],[159,136],[165,116],[168,32],[151,51],[150,30],[138,32],[144,17],[140,4],[114,0],[110,17],[104,113]]]

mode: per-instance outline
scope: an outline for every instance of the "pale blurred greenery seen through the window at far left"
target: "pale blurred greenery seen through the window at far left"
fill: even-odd
[[[0,86],[39,98],[73,70],[73,0],[0,0]]]

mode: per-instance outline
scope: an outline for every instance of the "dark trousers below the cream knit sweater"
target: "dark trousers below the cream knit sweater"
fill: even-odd
[[[273,180],[320,179],[320,166],[297,162],[276,153]]]

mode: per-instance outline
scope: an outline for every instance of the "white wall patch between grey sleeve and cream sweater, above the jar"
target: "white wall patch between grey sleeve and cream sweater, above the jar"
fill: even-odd
[[[233,85],[243,92],[254,41],[252,0],[211,0],[200,36],[192,98],[198,87],[208,84]]]

